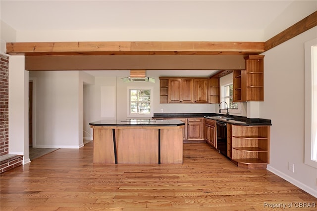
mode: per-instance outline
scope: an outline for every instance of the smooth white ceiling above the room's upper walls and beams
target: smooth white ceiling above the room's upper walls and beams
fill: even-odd
[[[264,29],[294,0],[0,0],[15,30]]]

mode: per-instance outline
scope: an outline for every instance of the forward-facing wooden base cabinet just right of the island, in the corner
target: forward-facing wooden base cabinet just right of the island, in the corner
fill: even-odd
[[[203,119],[187,118],[187,140],[203,139]]]

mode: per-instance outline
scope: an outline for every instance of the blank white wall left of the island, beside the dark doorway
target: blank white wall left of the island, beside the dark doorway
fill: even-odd
[[[79,72],[31,71],[30,77],[36,78],[37,84],[37,133],[34,147],[82,146],[82,132],[79,132],[82,131],[79,128]]]

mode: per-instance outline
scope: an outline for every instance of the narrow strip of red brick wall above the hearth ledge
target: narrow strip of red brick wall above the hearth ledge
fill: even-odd
[[[9,56],[0,54],[0,156],[9,152]]]

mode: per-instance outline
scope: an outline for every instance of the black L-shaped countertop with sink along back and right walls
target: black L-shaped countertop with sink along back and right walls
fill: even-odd
[[[195,118],[204,117],[212,120],[217,120],[232,125],[244,125],[244,126],[271,126],[271,120],[261,118],[247,118],[242,116],[229,115],[233,118],[231,120],[215,119],[212,117],[225,116],[218,113],[154,113],[153,119],[159,118]]]

